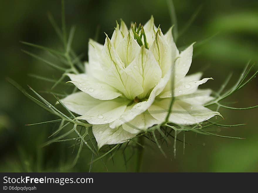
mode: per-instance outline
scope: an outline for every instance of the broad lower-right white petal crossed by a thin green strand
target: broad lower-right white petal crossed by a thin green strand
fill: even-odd
[[[167,116],[170,99],[162,99],[155,101],[148,109],[149,113],[157,120],[164,121]],[[169,115],[169,121],[179,125],[192,125],[203,122],[212,118],[215,115],[220,115],[202,105],[186,103],[182,100],[176,100],[172,106],[172,113]]]

